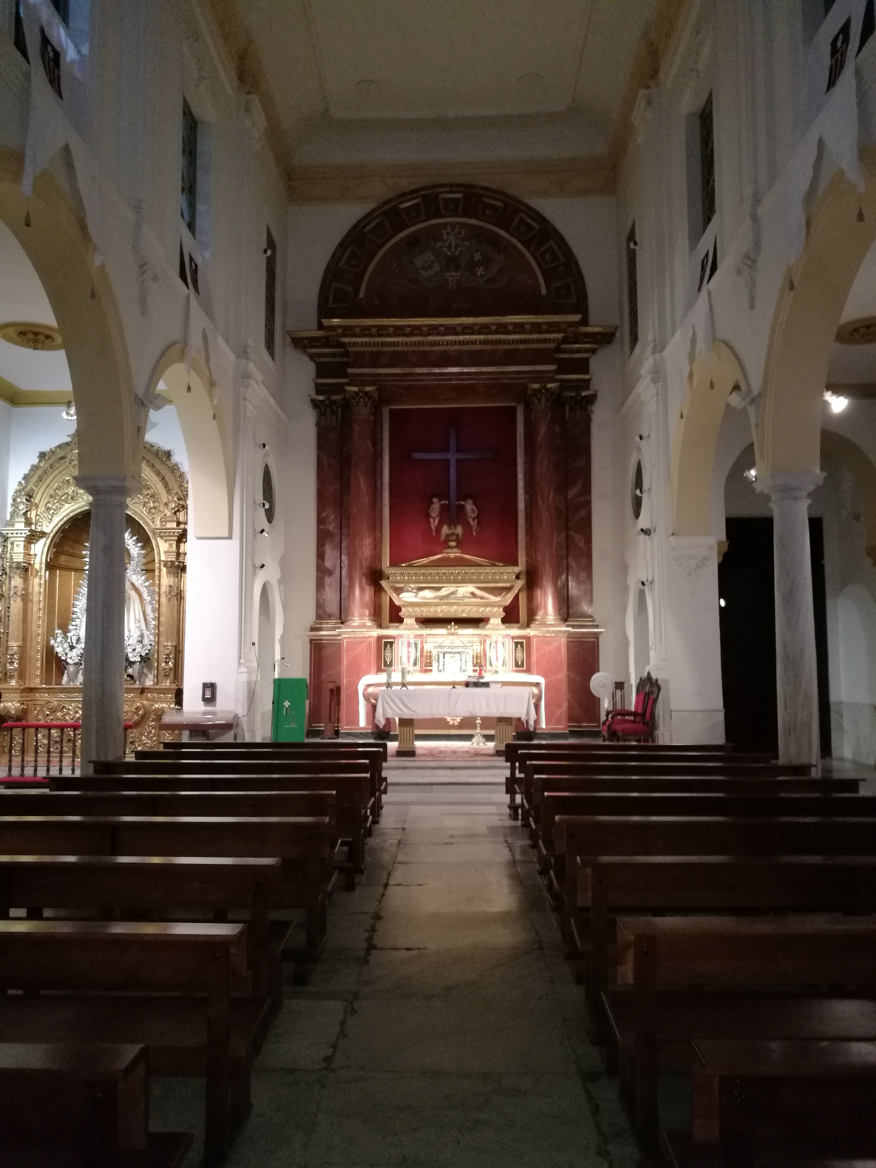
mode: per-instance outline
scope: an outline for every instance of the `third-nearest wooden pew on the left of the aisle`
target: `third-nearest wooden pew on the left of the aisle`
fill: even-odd
[[[249,915],[246,952],[257,999],[283,1004],[280,952],[288,922],[269,923],[279,896],[281,862],[230,856],[0,855],[0,919],[13,909],[29,917],[46,910],[243,910]]]

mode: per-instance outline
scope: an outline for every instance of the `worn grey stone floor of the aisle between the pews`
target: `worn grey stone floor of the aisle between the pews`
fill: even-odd
[[[637,1162],[501,772],[433,765],[433,785],[391,766],[368,871],[286,989],[228,1168]],[[159,1080],[152,1126],[200,1134],[201,1107],[199,1080]]]

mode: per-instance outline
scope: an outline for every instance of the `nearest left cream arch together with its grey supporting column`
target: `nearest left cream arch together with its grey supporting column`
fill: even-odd
[[[125,503],[140,477],[137,408],[125,332],[96,249],[69,147],[21,189],[23,155],[0,151],[0,218],[34,266],[64,342],[79,426],[78,485],[91,496],[90,637],[82,697],[83,766],[124,744]]]

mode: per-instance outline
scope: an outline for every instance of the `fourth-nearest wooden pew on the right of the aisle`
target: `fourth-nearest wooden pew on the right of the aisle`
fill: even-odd
[[[843,855],[876,853],[876,820],[778,816],[578,816],[555,820],[551,890],[569,937],[578,856]],[[562,856],[562,863],[559,857]]]

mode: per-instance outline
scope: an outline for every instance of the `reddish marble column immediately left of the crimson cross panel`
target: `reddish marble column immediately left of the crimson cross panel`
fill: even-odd
[[[348,387],[350,408],[349,529],[347,531],[348,628],[374,628],[375,412],[377,390]]]

